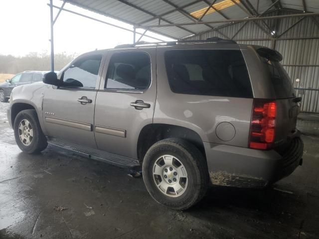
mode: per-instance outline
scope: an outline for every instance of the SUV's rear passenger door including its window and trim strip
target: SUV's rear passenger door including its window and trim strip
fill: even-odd
[[[95,105],[97,146],[137,158],[139,133],[153,123],[156,48],[109,51],[102,76]]]

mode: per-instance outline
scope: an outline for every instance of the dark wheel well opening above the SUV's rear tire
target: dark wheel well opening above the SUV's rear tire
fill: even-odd
[[[143,161],[146,152],[154,143],[172,137],[182,138],[194,144],[203,154],[204,158],[206,158],[203,140],[194,130],[173,124],[152,123],[145,125],[140,131],[137,143],[139,161]]]

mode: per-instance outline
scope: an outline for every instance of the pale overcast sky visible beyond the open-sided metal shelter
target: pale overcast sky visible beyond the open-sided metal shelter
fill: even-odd
[[[49,0],[0,0],[0,55],[24,56],[29,52],[50,52]],[[53,0],[61,6],[61,0]],[[66,9],[133,30],[133,26],[66,3]],[[53,16],[58,12],[54,9]],[[138,31],[143,32],[143,29]],[[171,40],[155,33],[147,33]],[[137,39],[139,35],[137,35]],[[144,41],[157,41],[143,37]],[[81,54],[95,49],[133,43],[133,33],[62,11],[54,24],[54,52]]]

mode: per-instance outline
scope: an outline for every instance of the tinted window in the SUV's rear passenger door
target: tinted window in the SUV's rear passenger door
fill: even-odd
[[[143,52],[112,55],[107,72],[107,89],[145,90],[151,83],[150,57]]]

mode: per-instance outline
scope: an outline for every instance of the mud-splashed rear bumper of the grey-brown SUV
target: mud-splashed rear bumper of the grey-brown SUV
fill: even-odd
[[[204,143],[212,184],[263,188],[290,175],[302,162],[304,144],[294,137],[282,152]]]

